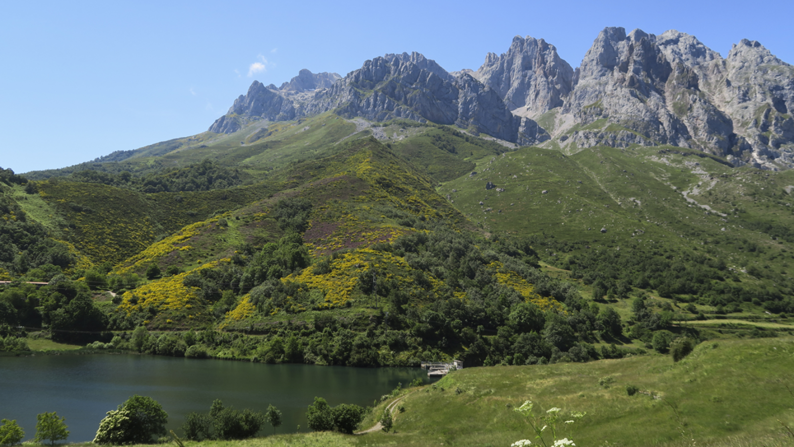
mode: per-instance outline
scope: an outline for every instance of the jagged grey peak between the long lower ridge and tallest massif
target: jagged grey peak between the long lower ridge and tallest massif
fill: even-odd
[[[535,116],[563,104],[572,89],[573,69],[554,45],[516,36],[502,55],[489,52],[473,76],[497,91],[517,115]]]

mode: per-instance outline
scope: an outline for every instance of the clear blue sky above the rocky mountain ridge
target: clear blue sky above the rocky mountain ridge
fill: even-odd
[[[0,166],[59,168],[198,134],[253,80],[342,76],[387,52],[476,69],[512,37],[579,65],[599,30],[693,34],[723,56],[742,38],[794,63],[794,2],[4,2]]]

